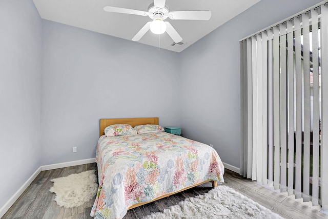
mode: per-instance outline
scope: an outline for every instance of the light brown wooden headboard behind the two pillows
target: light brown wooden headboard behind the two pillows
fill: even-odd
[[[100,133],[99,136],[104,134],[107,126],[114,124],[130,124],[132,127],[138,125],[155,124],[158,125],[158,117],[149,118],[100,118]]]

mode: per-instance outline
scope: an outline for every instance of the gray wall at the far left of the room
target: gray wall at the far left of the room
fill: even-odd
[[[0,208],[40,167],[41,64],[32,1],[0,0]]]

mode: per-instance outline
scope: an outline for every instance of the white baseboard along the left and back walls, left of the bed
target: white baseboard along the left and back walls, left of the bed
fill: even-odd
[[[91,164],[96,162],[95,158],[85,159],[85,160],[79,160],[79,161],[71,161],[71,162],[65,162],[65,163],[59,163],[59,164],[50,164],[50,165],[44,165],[37,168],[37,170],[28,178],[28,180],[21,186],[16,193],[8,200],[8,202],[0,209],[0,218],[5,215],[5,213],[9,210],[9,208],[16,202],[16,200],[19,198],[21,194],[25,191],[25,189],[32,183],[32,181],[36,178],[36,176],[44,170],[53,170],[57,168],[63,168],[63,167],[71,167],[76,165],[82,165],[82,164]]]

